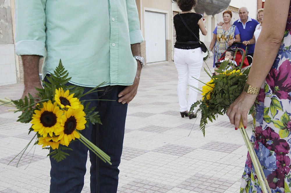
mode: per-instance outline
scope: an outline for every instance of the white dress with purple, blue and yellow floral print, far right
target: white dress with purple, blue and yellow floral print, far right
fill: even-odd
[[[291,192],[291,6],[278,55],[256,106],[251,141],[272,193]],[[249,154],[240,193],[262,192]]]

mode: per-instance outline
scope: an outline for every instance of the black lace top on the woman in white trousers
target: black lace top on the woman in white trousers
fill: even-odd
[[[199,38],[199,26],[198,21],[202,18],[202,15],[198,13],[183,13],[180,14],[188,25],[188,27],[193,31],[193,33]],[[189,42],[189,41],[197,41],[196,38],[191,34],[191,32],[187,29],[187,27],[182,22],[179,14],[174,16],[174,26],[176,29],[176,41],[179,42]],[[180,49],[195,49],[200,47],[200,44],[181,44],[175,43],[175,48]]]

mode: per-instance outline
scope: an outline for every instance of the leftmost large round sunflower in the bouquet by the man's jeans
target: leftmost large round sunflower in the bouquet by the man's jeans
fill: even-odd
[[[57,103],[52,101],[44,102],[40,110],[35,110],[32,116],[32,128],[42,137],[53,136],[53,132],[58,129],[63,111],[57,106]]]

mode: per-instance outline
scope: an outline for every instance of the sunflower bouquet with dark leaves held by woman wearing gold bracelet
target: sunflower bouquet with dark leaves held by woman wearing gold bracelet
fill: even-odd
[[[207,83],[202,82],[205,84],[202,87],[202,90],[190,85],[192,88],[200,91],[202,95],[202,99],[195,102],[191,106],[190,111],[193,111],[195,107],[199,107],[197,112],[201,111],[200,130],[203,132],[204,136],[205,126],[207,125],[208,121],[213,122],[216,120],[218,115],[226,114],[230,104],[233,103],[235,99],[242,93],[248,78],[249,70],[250,68],[242,71],[241,67],[230,69],[228,61],[224,61],[221,63],[218,70],[216,70],[218,75],[212,76],[204,68],[204,71],[210,76],[210,81]],[[250,110],[250,114],[252,112],[253,108]],[[249,155],[255,168],[258,181],[262,187],[262,192],[267,193],[267,191],[269,191],[269,193],[271,193],[268,182],[262,170],[262,166],[244,129],[242,120],[240,121],[239,130],[249,151]]]

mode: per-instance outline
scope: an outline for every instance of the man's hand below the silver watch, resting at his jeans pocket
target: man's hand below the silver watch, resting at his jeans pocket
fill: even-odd
[[[121,102],[122,104],[128,104],[130,101],[132,101],[137,93],[137,88],[139,87],[139,78],[141,75],[141,63],[138,61],[137,65],[140,67],[137,69],[133,84],[125,87],[125,89],[118,94],[118,102]]]

